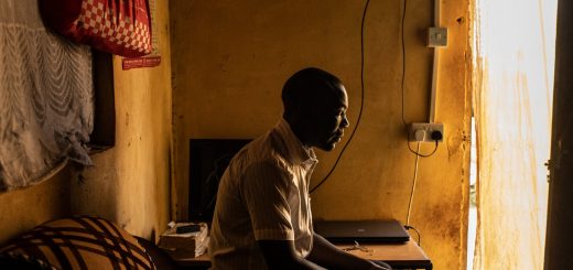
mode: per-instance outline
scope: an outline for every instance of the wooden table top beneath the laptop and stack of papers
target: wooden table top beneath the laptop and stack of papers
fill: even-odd
[[[335,244],[340,249],[354,247],[354,244]],[[432,269],[432,261],[421,247],[413,240],[400,244],[360,244],[365,250],[348,250],[353,255],[368,260],[381,260],[390,264],[393,269]],[[193,269],[207,269],[210,267],[208,255],[197,258],[177,260],[182,267]]]

